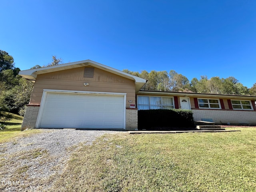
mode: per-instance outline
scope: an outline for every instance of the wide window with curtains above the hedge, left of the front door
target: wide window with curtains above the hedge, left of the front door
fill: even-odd
[[[137,103],[138,110],[174,108],[172,97],[138,96]]]

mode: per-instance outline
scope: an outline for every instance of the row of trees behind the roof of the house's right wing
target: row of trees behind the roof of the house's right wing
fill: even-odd
[[[256,83],[251,88],[248,88],[232,76],[228,78],[201,76],[199,80],[192,78],[189,81],[186,76],[178,74],[175,70],[170,70],[168,73],[167,71],[156,70],[134,72],[124,69],[123,72],[148,80],[142,90],[256,95]]]

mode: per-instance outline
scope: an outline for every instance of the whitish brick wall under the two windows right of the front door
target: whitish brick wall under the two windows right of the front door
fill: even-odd
[[[256,125],[256,111],[242,110],[195,110],[193,109],[195,121],[202,118],[212,119],[216,124],[250,124]]]

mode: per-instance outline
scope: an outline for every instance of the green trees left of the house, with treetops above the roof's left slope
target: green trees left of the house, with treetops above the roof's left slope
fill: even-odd
[[[52,56],[52,62],[45,66],[62,63],[61,58]],[[32,68],[45,66],[36,65]],[[0,50],[0,121],[11,116],[4,112],[11,112],[24,116],[26,104],[29,103],[34,83],[18,75],[20,68],[16,68],[14,58]]]

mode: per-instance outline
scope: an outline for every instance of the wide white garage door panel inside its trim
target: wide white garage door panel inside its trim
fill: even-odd
[[[124,95],[47,93],[40,128],[124,128]]]

